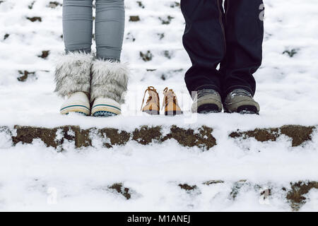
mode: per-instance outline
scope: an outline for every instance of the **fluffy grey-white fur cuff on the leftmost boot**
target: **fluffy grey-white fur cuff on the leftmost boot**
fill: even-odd
[[[71,52],[61,56],[55,70],[57,87],[54,92],[66,97],[76,92],[90,93],[90,70],[93,56]]]

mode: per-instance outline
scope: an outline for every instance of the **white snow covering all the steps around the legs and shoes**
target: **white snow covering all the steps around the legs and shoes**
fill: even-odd
[[[236,129],[318,125],[317,0],[264,1],[264,64],[255,74],[260,116],[189,114],[191,99],[183,76],[190,62],[182,48],[184,20],[179,7],[172,0],[141,2],[142,6],[126,0],[122,60],[130,64],[131,79],[124,114],[94,119],[59,115],[63,100],[53,93],[53,63],[64,48],[61,6],[50,8],[49,0],[0,1],[0,126],[74,124],[133,130],[144,124],[186,128],[205,124],[215,129],[219,145],[202,153],[173,141],[150,146],[131,141],[111,150],[69,148],[56,153],[40,141],[8,146],[6,134],[0,133],[0,210],[290,210],[280,192],[269,205],[262,205],[255,189],[247,188],[235,201],[229,198],[230,190],[240,179],[269,183],[277,190],[300,179],[318,181],[317,133],[298,148],[290,148],[285,137],[276,143],[250,139],[237,145],[226,135]],[[131,22],[130,16],[139,16],[140,21]],[[163,24],[169,16],[171,22]],[[42,21],[27,19],[33,17]],[[38,57],[47,50],[46,59]],[[148,51],[153,59],[145,62],[140,52]],[[22,82],[18,71],[35,75]],[[173,88],[186,114],[174,118],[141,114],[148,85],[160,93],[165,86]],[[211,179],[226,183],[201,184]],[[134,191],[129,201],[107,189],[115,182]],[[177,186],[186,182],[198,189],[187,192]],[[47,191],[52,189],[57,191],[57,204],[48,205]],[[318,210],[317,191],[307,196],[301,210]]]

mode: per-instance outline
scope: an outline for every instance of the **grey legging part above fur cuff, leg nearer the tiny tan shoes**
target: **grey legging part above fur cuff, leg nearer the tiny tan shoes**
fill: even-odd
[[[124,0],[96,0],[95,39],[98,59],[120,60],[124,23]]]

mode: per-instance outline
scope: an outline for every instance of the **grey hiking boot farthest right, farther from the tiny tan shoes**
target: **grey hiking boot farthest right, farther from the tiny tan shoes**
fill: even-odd
[[[259,114],[259,103],[256,102],[247,90],[233,90],[223,103],[225,112],[240,114]]]

